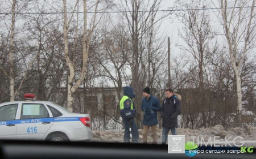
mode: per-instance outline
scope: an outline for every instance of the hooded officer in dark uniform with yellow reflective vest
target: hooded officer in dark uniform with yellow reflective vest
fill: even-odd
[[[139,131],[134,121],[136,110],[133,102],[133,98],[135,98],[133,91],[133,87],[126,86],[123,89],[123,97],[119,102],[121,117],[125,123],[125,135],[123,136],[125,143],[130,143],[130,138],[132,143],[138,143],[139,139]],[[130,137],[130,127],[132,137]]]

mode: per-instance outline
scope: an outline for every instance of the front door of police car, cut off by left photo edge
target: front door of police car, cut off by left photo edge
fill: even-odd
[[[16,112],[18,104],[9,104],[0,107],[0,138],[16,139]]]

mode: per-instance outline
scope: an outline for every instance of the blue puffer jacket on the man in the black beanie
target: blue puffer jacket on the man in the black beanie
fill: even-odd
[[[161,110],[161,105],[158,98],[150,95],[150,98],[144,97],[142,100],[142,111],[144,111],[143,125],[158,124],[158,113]]]

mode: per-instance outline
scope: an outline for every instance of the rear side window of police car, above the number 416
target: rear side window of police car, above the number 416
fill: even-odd
[[[49,113],[43,104],[22,104],[20,119],[49,118]]]

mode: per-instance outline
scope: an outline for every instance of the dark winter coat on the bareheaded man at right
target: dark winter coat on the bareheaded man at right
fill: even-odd
[[[177,116],[181,113],[180,100],[175,95],[166,98],[161,107],[163,127],[177,127]]]

